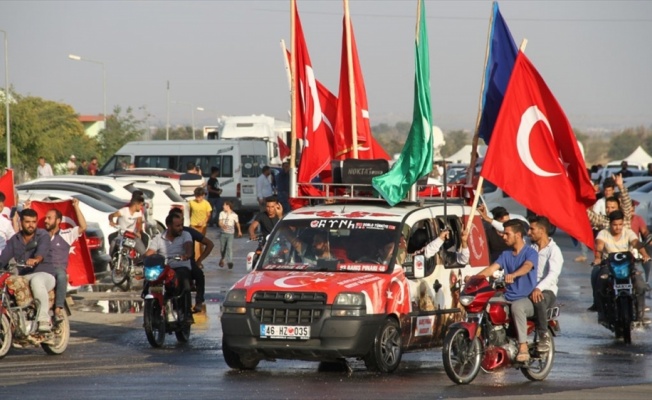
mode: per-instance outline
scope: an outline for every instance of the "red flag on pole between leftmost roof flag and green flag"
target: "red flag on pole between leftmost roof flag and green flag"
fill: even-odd
[[[346,47],[346,19],[342,22],[342,58],[340,63],[340,89],[337,97],[337,118],[334,128],[334,157],[338,160],[353,158],[353,138],[351,133],[352,115],[351,115],[351,86],[349,85],[349,57]],[[359,159],[378,159],[389,160],[389,155],[380,146],[380,144],[371,135],[371,126],[369,124],[369,104],[367,102],[367,90],[365,89],[362,68],[360,67],[360,58],[353,34],[353,25],[350,26],[351,32],[351,60],[353,65],[353,84],[355,91],[355,119],[357,130],[357,145]]]

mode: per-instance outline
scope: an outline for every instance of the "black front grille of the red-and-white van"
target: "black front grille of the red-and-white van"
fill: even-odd
[[[288,295],[288,296],[286,296]],[[291,297],[291,299],[288,299]],[[310,325],[324,315],[325,293],[257,292],[253,297],[254,316],[260,323]]]

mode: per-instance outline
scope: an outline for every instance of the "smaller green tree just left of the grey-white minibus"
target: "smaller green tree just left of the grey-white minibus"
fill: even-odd
[[[106,119],[106,127],[97,135],[100,163],[113,156],[125,144],[145,137],[148,114],[144,107],[140,109],[145,112],[145,117],[142,119],[134,115],[131,107],[127,107],[123,114],[122,108],[115,106],[113,114]]]

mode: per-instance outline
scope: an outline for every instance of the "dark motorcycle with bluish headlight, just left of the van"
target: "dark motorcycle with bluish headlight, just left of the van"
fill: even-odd
[[[152,347],[163,346],[165,335],[172,332],[179,343],[190,339],[190,290],[184,290],[183,282],[168,264],[173,260],[181,258],[166,260],[161,255],[151,255],[144,260],[143,327]]]

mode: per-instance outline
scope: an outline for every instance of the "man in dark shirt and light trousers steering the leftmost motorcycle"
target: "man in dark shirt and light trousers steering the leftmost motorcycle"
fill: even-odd
[[[37,302],[38,331],[47,333],[52,330],[48,314],[48,292],[54,289],[54,265],[48,259],[50,237],[44,229],[37,229],[38,214],[32,209],[20,213],[21,230],[7,242],[7,247],[0,254],[0,266],[7,267],[14,258],[24,263],[27,268],[21,271],[29,281],[32,295]]]

